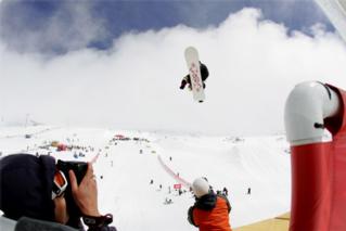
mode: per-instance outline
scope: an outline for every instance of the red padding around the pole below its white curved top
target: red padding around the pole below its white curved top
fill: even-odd
[[[339,100],[337,113],[323,119],[332,141],[291,142],[290,231],[346,230],[346,92],[328,87]]]

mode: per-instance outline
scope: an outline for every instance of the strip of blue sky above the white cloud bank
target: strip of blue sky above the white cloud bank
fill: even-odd
[[[309,33],[307,28],[316,23],[333,29],[312,0],[2,0],[0,36],[20,52],[60,54],[85,47],[106,50],[127,31],[158,30],[179,24],[193,28],[217,26],[245,7],[260,9],[265,20],[284,24],[290,30]],[[81,23],[93,29],[80,28],[76,24],[80,16],[85,17]],[[48,27],[52,24],[56,36],[68,38],[51,39]]]

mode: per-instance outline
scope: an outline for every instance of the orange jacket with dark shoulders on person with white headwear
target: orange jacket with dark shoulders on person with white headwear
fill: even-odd
[[[189,221],[200,231],[231,231],[231,206],[223,195],[209,193],[202,196],[189,209]]]

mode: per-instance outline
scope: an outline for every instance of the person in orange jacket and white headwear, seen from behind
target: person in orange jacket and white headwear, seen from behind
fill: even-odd
[[[195,203],[189,208],[189,222],[198,227],[200,231],[231,231],[231,206],[227,197],[215,194],[203,178],[195,179],[192,189]]]

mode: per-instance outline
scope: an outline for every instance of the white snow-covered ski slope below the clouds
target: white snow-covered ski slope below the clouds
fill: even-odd
[[[129,140],[115,140],[116,134]],[[57,152],[56,147],[47,147],[52,141],[86,149]],[[177,179],[189,183],[201,176],[207,177],[215,190],[228,189],[232,228],[286,213],[291,205],[287,150],[283,136],[230,138],[48,126],[0,128],[2,156],[17,152],[50,153],[74,161],[98,156],[94,171],[100,210],[112,213],[114,224],[123,231],[195,230],[187,220],[188,208],[194,203],[192,194],[183,188],[187,192],[179,195],[172,188],[179,183]],[[252,189],[251,195],[246,194],[247,188]],[[165,204],[165,198],[171,198],[172,204]]]

